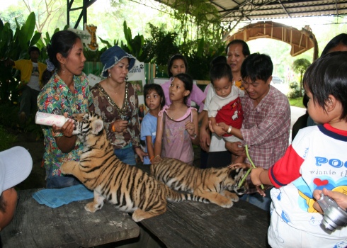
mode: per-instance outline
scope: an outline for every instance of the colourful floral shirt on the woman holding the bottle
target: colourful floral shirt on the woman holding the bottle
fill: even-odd
[[[89,81],[84,73],[81,76],[74,76],[74,92],[72,92],[55,72],[38,95],[38,111],[57,115],[62,115],[65,112],[69,115],[88,113],[92,103]],[[70,160],[79,161],[83,146],[79,140],[76,140],[74,149],[64,153],[59,150],[55,142],[55,137],[62,136],[62,133],[53,133],[52,127],[46,125],[42,125],[42,131],[45,136],[43,164],[46,171],[50,173],[47,176],[60,176],[62,163]]]

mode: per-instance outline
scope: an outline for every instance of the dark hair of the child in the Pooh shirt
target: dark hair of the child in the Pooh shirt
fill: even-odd
[[[314,104],[326,111],[329,95],[341,102],[340,119],[347,116],[347,52],[330,52],[314,61],[304,74],[303,84]]]

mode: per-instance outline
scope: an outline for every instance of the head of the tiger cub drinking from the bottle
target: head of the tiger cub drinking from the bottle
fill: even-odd
[[[76,126],[73,134],[79,138],[90,134],[100,135],[103,130],[103,120],[96,113],[74,113],[72,118]]]

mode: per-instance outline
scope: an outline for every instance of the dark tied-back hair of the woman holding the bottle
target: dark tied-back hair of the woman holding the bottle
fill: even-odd
[[[47,54],[50,58],[50,62],[52,62],[56,68],[60,69],[57,53],[60,53],[62,57],[67,57],[78,39],[81,40],[79,35],[70,30],[62,30],[52,35],[50,44],[47,45]]]

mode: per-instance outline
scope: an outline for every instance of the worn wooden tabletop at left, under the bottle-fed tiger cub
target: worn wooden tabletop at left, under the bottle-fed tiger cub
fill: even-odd
[[[35,191],[38,189],[18,191],[16,214],[1,230],[4,248],[93,247],[140,234],[130,216],[109,203],[96,213],[84,210],[91,200],[49,208],[35,201]]]

